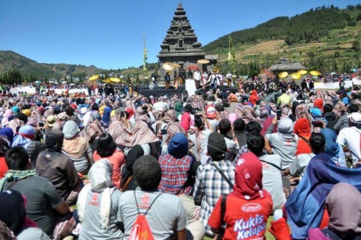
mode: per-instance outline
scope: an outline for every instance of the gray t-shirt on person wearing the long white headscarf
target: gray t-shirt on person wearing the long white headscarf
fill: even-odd
[[[119,203],[122,192],[116,189],[111,196],[112,203],[109,214],[109,228],[107,230],[101,226],[100,203],[102,194],[103,193],[95,193],[92,190],[88,192],[79,240],[123,239],[123,233],[116,225],[117,222],[121,222]]]

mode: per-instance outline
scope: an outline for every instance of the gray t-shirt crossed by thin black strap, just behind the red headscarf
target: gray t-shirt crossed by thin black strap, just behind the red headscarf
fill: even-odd
[[[281,171],[270,163],[281,167],[281,158],[277,154],[263,155],[259,157],[262,163],[262,185],[272,197],[273,201],[273,210],[282,208],[283,204],[286,202],[286,197],[283,193],[282,188],[282,176]]]

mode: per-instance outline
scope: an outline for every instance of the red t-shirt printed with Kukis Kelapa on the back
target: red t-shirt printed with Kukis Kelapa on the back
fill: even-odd
[[[208,220],[208,225],[214,229],[221,228],[221,199],[222,197],[218,199]],[[266,223],[272,207],[271,195],[257,200],[227,196],[224,218],[227,227],[223,240],[265,239]]]

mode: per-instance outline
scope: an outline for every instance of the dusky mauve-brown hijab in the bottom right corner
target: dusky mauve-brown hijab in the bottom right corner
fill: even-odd
[[[340,182],[332,187],[326,208],[330,215],[328,228],[342,239],[353,239],[361,233],[361,193],[354,186]]]

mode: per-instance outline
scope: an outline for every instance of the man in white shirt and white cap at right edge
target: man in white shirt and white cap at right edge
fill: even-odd
[[[348,124],[350,127],[343,128],[337,136],[336,142],[338,144],[347,146],[351,153],[353,165],[360,162],[360,136],[361,136],[361,114],[351,113],[348,117]]]

